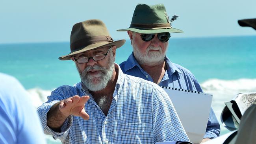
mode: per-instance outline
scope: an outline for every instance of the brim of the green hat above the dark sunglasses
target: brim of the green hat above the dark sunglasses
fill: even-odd
[[[182,30],[176,28],[166,28],[166,29],[137,29],[137,28],[127,28],[121,29],[117,31],[134,31],[136,33],[165,33],[165,32],[172,32],[172,33],[183,33]]]

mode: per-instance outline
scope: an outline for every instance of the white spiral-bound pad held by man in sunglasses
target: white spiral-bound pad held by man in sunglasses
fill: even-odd
[[[206,131],[212,94],[166,87],[163,89],[171,98],[189,140],[194,144],[200,143]]]

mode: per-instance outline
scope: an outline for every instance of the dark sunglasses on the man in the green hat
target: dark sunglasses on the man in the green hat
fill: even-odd
[[[150,34],[146,34],[146,33],[141,33],[141,39],[143,41],[150,41],[152,39],[154,39],[155,37],[155,33],[150,33]],[[157,34],[158,39],[161,42],[167,42],[169,40],[169,38],[171,37],[170,33],[158,33]]]

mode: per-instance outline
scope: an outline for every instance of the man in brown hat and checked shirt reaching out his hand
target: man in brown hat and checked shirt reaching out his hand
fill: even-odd
[[[187,135],[168,95],[158,85],[122,73],[116,49],[100,20],[75,24],[70,54],[81,82],[52,91],[37,111],[44,131],[65,144],[154,144]]]

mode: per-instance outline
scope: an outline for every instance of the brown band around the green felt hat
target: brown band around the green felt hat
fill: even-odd
[[[139,23],[131,23],[130,28],[139,28],[139,29],[164,29],[164,28],[172,28],[169,23],[162,24],[139,24]]]

